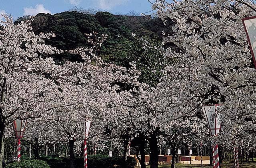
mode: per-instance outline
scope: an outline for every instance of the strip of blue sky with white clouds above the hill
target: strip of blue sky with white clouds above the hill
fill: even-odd
[[[126,14],[130,10],[145,13],[151,10],[148,0],[0,0],[0,13],[10,13],[16,19],[26,14],[60,13],[73,6],[102,9],[113,14]]]

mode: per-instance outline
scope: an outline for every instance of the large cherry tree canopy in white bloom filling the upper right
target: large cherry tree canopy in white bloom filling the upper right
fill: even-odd
[[[248,137],[255,130],[256,76],[242,18],[256,15],[255,4],[157,0],[153,8],[164,23],[174,22],[173,34],[164,42],[180,48],[166,50],[166,56],[177,60],[167,71],[189,79],[176,78],[176,89],[186,95],[180,101],[196,100],[188,104],[195,111],[202,104],[223,105],[222,132],[214,138],[219,142],[231,144],[234,138]]]

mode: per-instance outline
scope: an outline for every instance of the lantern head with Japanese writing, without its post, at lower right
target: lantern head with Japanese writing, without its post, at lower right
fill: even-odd
[[[202,106],[204,117],[206,118],[211,135],[218,135],[220,132],[221,121],[220,114],[217,111],[218,106],[221,105],[214,104]]]

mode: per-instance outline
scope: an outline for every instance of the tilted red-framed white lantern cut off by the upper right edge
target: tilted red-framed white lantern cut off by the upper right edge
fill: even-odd
[[[252,58],[254,62],[254,67],[256,68],[256,16],[243,18],[242,22],[244,24],[244,29],[249,42],[250,50],[252,53]]]

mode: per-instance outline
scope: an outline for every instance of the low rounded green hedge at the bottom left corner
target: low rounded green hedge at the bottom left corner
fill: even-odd
[[[43,160],[21,160],[6,165],[6,168],[50,168]]]

